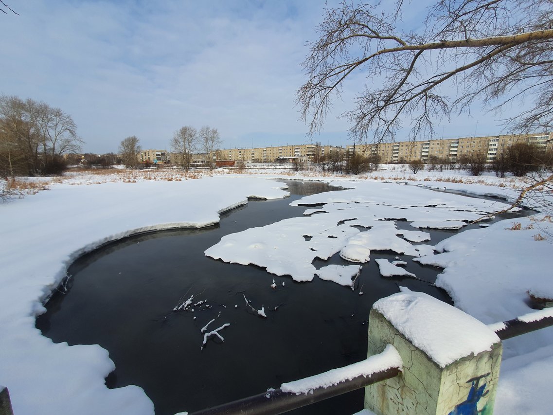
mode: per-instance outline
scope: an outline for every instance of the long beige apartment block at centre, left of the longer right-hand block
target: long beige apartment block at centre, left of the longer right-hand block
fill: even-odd
[[[301,161],[316,159],[331,154],[333,151],[343,151],[341,147],[317,146],[316,144],[300,144],[298,146],[231,148],[217,150],[216,160],[241,160],[248,163],[272,163],[279,158],[296,158]]]

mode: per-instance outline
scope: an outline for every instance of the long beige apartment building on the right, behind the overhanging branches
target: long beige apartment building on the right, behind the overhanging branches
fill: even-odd
[[[415,142],[356,144],[347,146],[349,154],[380,156],[381,163],[410,162],[439,157],[455,162],[458,157],[471,153],[485,153],[487,162],[493,162],[505,149],[515,143],[534,144],[546,151],[553,149],[553,133],[508,134],[503,136],[462,137]]]

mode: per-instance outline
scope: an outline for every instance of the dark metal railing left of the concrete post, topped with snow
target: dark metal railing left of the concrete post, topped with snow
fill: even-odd
[[[283,383],[259,395],[225,403],[190,415],[275,415],[342,395],[399,375],[403,362],[394,346],[378,355],[319,375]]]

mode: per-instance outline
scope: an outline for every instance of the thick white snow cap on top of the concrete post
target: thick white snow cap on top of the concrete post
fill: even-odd
[[[404,289],[379,299],[373,308],[440,367],[492,350],[500,341],[481,321],[425,293]]]

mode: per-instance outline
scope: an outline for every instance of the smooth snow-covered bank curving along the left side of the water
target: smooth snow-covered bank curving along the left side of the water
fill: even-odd
[[[14,413],[152,414],[142,388],[105,386],[113,370],[106,350],[53,344],[35,329],[41,301],[85,251],[137,232],[215,224],[249,196],[283,198],[282,186],[234,176],[54,184],[0,205],[0,383]]]

